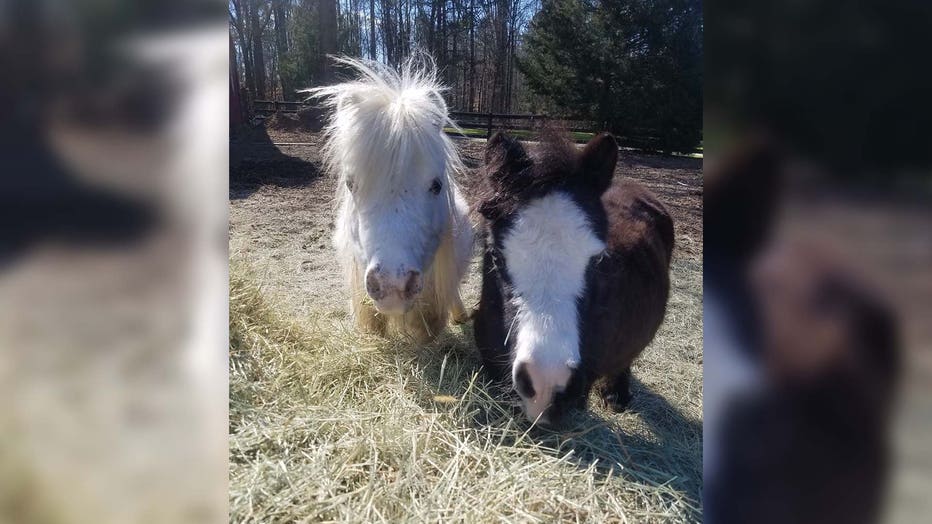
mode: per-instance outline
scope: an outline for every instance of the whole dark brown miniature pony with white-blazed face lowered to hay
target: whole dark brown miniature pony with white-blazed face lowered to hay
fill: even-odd
[[[503,134],[486,149],[476,343],[534,422],[584,409],[599,380],[623,410],[631,363],[663,320],[673,222],[647,189],[613,181],[617,160],[608,134],[582,151],[550,138],[529,155]]]

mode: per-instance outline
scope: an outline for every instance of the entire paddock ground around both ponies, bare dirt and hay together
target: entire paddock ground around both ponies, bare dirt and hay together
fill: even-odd
[[[485,141],[457,144],[478,165]],[[616,176],[675,220],[670,303],[631,409],[593,401],[552,434],[488,397],[468,324],[423,348],[353,332],[319,145],[265,129],[231,142],[232,520],[701,520],[701,160],[622,152]]]

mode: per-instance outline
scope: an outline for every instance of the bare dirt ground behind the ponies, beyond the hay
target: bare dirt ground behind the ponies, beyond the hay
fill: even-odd
[[[485,140],[456,143],[467,166],[477,167]],[[298,317],[323,308],[341,315],[346,309],[331,246],[334,181],[321,173],[319,150],[317,133],[262,128],[230,145],[231,257],[245,260],[266,286],[263,292]],[[674,261],[688,262],[697,276],[702,160],[622,151],[616,176],[639,180],[660,197],[674,219]],[[477,267],[478,257],[464,289],[467,304],[478,300]]]

